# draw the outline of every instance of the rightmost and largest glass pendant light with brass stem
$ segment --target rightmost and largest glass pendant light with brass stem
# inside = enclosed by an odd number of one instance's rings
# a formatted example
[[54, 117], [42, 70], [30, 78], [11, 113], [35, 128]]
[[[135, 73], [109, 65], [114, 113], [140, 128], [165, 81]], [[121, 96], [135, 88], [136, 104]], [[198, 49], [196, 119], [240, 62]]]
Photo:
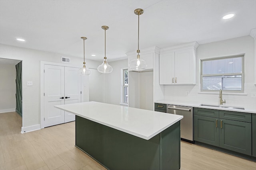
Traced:
[[129, 69], [134, 71], [142, 71], [147, 67], [146, 61], [140, 59], [140, 49], [139, 49], [139, 29], [140, 29], [140, 15], [143, 14], [143, 10], [138, 8], [134, 10], [134, 14], [138, 15], [138, 50], [137, 50], [137, 59], [130, 61]]

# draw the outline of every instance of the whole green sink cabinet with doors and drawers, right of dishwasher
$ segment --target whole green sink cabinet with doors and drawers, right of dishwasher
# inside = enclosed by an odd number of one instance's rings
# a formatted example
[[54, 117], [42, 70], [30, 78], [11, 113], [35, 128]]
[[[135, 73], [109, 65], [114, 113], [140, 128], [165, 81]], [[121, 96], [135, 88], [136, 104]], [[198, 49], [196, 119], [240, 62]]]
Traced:
[[256, 157], [256, 114], [194, 108], [194, 140]]

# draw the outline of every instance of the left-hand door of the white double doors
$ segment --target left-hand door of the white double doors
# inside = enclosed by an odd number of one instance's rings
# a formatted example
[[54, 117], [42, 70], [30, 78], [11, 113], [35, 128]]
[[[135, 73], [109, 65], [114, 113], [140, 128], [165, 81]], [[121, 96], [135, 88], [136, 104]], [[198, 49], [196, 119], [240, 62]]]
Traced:
[[[63, 97], [63, 99], [62, 99]], [[44, 64], [44, 127], [64, 123], [64, 67]]]

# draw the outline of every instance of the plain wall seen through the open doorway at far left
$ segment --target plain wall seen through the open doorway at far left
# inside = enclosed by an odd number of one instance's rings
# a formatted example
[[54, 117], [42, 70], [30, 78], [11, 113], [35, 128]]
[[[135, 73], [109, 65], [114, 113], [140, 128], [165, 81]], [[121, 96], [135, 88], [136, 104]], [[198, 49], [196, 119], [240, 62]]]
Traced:
[[16, 68], [14, 64], [0, 63], [0, 113], [15, 111]]

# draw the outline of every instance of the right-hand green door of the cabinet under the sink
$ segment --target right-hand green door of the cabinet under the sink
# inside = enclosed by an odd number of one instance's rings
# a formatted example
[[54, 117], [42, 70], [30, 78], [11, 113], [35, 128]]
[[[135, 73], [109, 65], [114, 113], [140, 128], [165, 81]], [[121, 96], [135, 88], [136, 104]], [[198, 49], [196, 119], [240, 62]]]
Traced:
[[252, 155], [252, 124], [219, 119], [220, 147]]

